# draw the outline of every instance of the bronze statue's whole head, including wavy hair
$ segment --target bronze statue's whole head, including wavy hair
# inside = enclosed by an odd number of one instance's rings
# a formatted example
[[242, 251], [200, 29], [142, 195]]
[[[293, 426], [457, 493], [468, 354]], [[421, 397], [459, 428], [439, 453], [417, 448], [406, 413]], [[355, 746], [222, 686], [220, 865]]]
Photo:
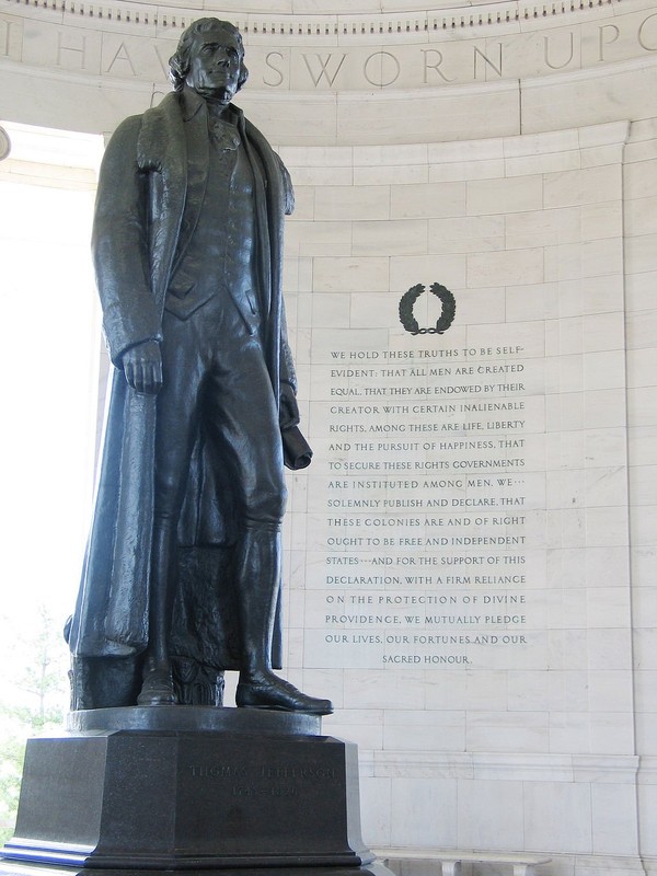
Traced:
[[228, 21], [198, 19], [169, 59], [169, 78], [175, 91], [186, 84], [204, 97], [228, 103], [249, 78], [242, 35]]

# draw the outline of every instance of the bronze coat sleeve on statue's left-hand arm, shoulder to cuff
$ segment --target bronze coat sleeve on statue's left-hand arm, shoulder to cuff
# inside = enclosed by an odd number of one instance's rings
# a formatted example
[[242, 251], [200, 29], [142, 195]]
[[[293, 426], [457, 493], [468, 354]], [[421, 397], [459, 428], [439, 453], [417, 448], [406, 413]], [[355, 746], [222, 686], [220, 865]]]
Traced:
[[143, 341], [161, 341], [161, 318], [150, 288], [148, 174], [139, 168], [140, 116], [112, 137], [99, 178], [92, 254], [112, 361]]

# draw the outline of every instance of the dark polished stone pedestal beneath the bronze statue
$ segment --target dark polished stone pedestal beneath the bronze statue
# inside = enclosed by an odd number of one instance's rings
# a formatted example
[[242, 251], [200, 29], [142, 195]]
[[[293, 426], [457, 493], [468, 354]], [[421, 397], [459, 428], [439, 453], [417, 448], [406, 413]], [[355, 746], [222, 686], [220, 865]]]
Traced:
[[310, 715], [197, 706], [77, 712], [31, 739], [0, 854], [2, 876], [387, 873], [360, 838], [356, 746]]

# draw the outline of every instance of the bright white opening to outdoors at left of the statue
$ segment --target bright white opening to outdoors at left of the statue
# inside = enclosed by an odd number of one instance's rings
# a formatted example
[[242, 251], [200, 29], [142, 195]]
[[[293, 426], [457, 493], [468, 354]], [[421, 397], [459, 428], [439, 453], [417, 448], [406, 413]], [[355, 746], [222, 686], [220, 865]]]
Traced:
[[[0, 829], [21, 735], [66, 708], [61, 630], [93, 493], [100, 307], [89, 240], [101, 137], [1, 123]], [[25, 733], [27, 730], [27, 733]], [[16, 765], [18, 764], [18, 765]]]

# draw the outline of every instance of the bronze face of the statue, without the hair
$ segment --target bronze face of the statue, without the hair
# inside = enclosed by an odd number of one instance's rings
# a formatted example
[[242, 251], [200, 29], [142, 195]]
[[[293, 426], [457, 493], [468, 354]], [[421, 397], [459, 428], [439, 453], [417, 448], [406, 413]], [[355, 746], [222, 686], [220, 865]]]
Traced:
[[197, 34], [189, 55], [186, 83], [203, 97], [229, 103], [238, 91], [242, 48], [227, 31]]

